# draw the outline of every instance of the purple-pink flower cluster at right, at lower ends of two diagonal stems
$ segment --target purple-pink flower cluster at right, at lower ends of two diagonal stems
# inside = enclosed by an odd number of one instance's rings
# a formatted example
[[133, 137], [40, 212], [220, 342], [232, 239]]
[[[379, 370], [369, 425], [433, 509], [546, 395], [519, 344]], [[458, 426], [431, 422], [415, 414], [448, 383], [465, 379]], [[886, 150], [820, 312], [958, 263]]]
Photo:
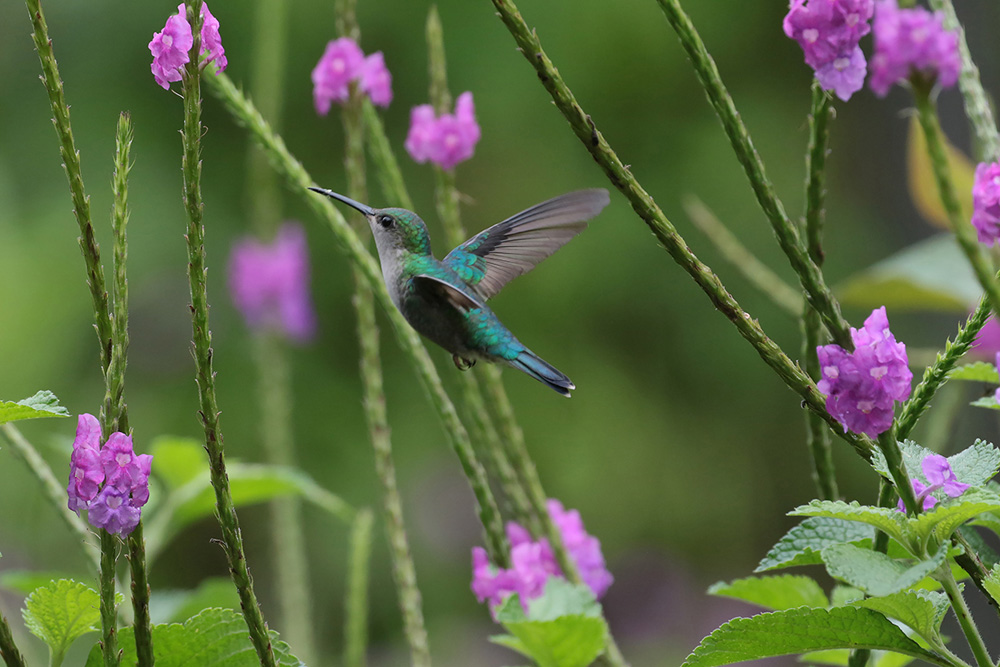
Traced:
[[823, 375], [816, 386], [845, 431], [875, 438], [892, 426], [894, 401], [909, 398], [913, 373], [906, 345], [889, 331], [885, 306], [872, 311], [864, 328], [851, 327], [851, 338], [853, 352], [839, 345], [816, 348]]

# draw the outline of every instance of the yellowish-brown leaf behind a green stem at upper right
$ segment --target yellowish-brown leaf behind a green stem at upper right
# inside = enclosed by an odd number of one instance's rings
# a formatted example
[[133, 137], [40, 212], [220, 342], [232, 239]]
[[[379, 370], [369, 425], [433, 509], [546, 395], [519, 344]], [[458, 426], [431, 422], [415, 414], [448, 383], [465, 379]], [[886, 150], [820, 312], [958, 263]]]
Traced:
[[[927, 151], [927, 140], [916, 116], [910, 120], [907, 144], [907, 184], [914, 205], [928, 222], [941, 229], [951, 229], [948, 214], [938, 195], [937, 180]], [[968, 220], [972, 217], [972, 183], [975, 180], [975, 166], [962, 151], [948, 141], [947, 137], [944, 140], [944, 148], [948, 171], [955, 184], [959, 205], [962, 207], [962, 220]]]

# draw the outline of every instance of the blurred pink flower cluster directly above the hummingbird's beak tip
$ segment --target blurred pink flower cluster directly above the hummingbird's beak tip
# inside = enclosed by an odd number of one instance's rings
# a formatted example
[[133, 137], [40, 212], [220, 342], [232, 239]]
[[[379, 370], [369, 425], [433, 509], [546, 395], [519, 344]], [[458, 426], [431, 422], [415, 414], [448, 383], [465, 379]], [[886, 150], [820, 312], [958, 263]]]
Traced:
[[374, 104], [387, 107], [392, 102], [392, 75], [382, 52], [376, 51], [366, 58], [361, 47], [349, 37], [326, 45], [323, 57], [313, 68], [312, 81], [313, 102], [321, 116], [330, 113], [333, 102], [347, 101], [352, 81], [358, 82], [358, 88]]

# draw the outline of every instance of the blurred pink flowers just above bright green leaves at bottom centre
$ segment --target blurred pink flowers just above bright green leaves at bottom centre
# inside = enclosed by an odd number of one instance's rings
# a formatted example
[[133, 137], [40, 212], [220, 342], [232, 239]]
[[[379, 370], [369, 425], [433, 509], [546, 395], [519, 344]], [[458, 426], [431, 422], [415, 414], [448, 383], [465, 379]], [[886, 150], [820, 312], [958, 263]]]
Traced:
[[[587, 534], [579, 512], [565, 510], [558, 500], [549, 500], [547, 507], [581, 579], [600, 598], [614, 581], [604, 565], [601, 543]], [[511, 547], [510, 569], [492, 566], [485, 549], [472, 549], [472, 592], [480, 602], [489, 600], [491, 611], [507, 596], [517, 593], [527, 612], [528, 600], [540, 597], [549, 577], [562, 577], [562, 570], [545, 538], [532, 540], [531, 534], [513, 521], [507, 524], [507, 538]]]

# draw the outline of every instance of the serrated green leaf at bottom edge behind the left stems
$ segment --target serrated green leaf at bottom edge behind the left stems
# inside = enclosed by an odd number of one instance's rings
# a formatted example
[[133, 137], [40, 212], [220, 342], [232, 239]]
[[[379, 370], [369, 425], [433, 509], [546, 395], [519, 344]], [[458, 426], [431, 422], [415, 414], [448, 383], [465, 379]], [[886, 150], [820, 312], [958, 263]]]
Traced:
[[[303, 667], [288, 644], [270, 632], [274, 659], [281, 667]], [[135, 635], [132, 628], [119, 631], [122, 667], [135, 667]], [[183, 624], [153, 626], [153, 657], [157, 667], [259, 667], [243, 616], [231, 609], [206, 609]], [[86, 667], [104, 664], [100, 645], [90, 650]]]

